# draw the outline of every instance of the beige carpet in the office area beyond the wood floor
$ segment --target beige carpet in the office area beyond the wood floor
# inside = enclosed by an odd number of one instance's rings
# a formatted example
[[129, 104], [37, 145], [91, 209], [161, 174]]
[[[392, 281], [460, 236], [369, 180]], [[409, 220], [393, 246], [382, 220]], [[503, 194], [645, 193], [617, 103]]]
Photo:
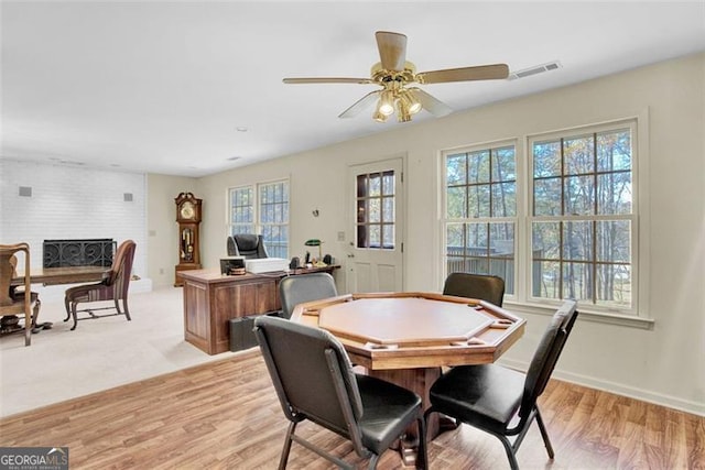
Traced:
[[[111, 304], [111, 303], [109, 303]], [[108, 304], [108, 305], [109, 305]], [[64, 323], [63, 300], [43, 300], [40, 321], [53, 328], [0, 338], [0, 416], [234, 356], [208, 356], [184, 341], [182, 289], [131, 294], [123, 316]]]

